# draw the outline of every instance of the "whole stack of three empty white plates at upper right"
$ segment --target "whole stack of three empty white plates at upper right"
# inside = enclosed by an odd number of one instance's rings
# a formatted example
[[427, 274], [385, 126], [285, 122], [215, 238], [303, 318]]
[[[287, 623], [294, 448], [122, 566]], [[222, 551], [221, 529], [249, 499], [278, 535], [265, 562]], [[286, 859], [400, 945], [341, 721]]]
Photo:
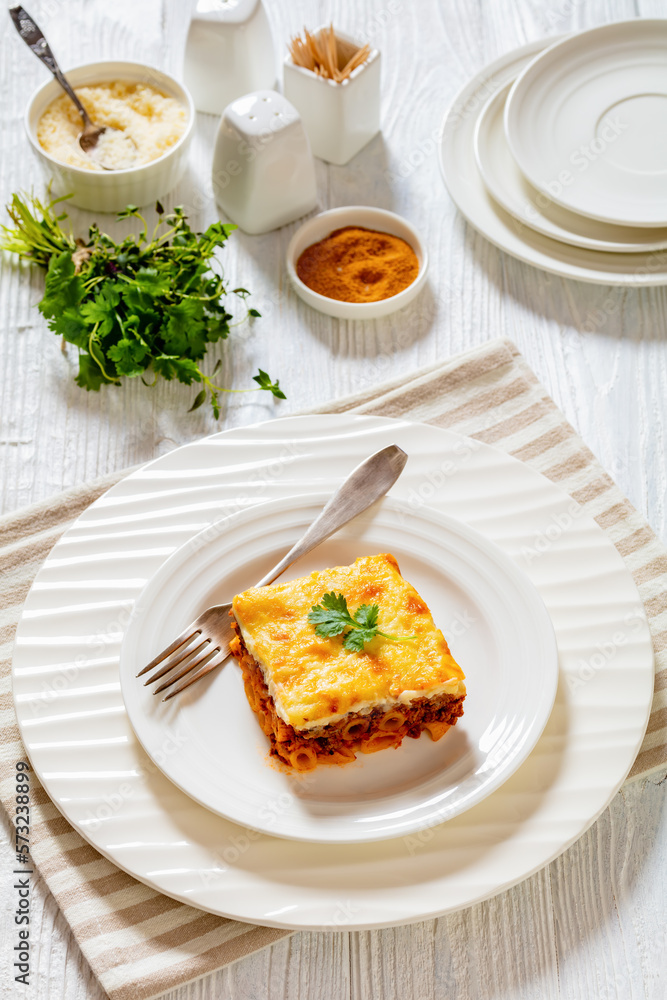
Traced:
[[527, 263], [667, 282], [667, 19], [617, 22], [496, 60], [442, 130], [452, 198]]

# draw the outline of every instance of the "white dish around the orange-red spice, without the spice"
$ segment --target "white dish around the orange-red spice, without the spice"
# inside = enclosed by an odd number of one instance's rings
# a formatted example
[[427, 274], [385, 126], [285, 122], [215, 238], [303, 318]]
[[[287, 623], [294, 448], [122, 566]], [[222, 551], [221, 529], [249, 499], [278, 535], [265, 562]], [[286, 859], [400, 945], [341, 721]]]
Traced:
[[[419, 272], [412, 284], [398, 295], [380, 299], [379, 302], [343, 302], [340, 299], [330, 299], [326, 295], [320, 295], [305, 285], [296, 273], [296, 262], [299, 257], [312, 243], [318, 243], [334, 229], [342, 229], [344, 226], [376, 229], [379, 232], [391, 233], [392, 236], [400, 236], [409, 243], [419, 261]], [[379, 319], [407, 306], [419, 294], [426, 282], [428, 254], [417, 230], [402, 216], [388, 212], [384, 208], [346, 205], [344, 208], [332, 208], [328, 212], [321, 212], [297, 229], [287, 248], [287, 271], [299, 298], [313, 309], [326, 313], [327, 316], [336, 316], [338, 319]]]

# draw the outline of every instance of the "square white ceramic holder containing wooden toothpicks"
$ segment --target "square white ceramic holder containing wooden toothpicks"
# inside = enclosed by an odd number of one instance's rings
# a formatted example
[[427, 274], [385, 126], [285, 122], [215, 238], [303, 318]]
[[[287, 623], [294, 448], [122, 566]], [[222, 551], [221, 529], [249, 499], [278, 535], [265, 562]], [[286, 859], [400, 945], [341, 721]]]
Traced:
[[[319, 35], [318, 28], [315, 35]], [[336, 37], [355, 49], [354, 38], [336, 31]], [[363, 44], [363, 43], [362, 43]], [[380, 131], [380, 53], [372, 49], [347, 80], [317, 76], [297, 66], [288, 55], [284, 63], [283, 92], [297, 109], [315, 156], [328, 163], [347, 163]]]

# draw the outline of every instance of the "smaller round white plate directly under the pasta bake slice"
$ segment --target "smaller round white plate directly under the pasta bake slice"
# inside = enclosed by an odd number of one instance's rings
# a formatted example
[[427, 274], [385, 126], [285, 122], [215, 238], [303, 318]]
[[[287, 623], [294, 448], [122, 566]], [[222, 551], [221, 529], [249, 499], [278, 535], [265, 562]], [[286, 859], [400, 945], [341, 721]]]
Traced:
[[[214, 812], [277, 837], [386, 840], [451, 819], [490, 795], [526, 759], [553, 707], [558, 651], [549, 615], [525, 574], [483, 535], [385, 497], [281, 578], [378, 552], [398, 559], [466, 672], [464, 716], [438, 743], [423, 735], [395, 750], [359, 754], [344, 768], [295, 774], [269, 756], [234, 660], [167, 702], [137, 679], [202, 611], [270, 572], [327, 500], [271, 500], [226, 518], [213, 538], [205, 528], [182, 545], [139, 598], [121, 649], [121, 688], [151, 760]], [[176, 725], [181, 750], [165, 756], [164, 734]], [[284, 808], [267, 810], [270, 801]]]

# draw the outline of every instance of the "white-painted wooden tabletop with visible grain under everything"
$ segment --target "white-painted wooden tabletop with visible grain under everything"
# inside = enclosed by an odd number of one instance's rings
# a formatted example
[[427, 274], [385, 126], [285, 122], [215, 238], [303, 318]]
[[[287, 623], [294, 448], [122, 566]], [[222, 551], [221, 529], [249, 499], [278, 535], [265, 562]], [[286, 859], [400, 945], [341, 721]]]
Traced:
[[[288, 400], [230, 396], [219, 425], [182, 386], [85, 393], [35, 309], [41, 276], [3, 262], [0, 284], [0, 509], [11, 511], [212, 432], [287, 414], [491, 337], [515, 341], [586, 443], [667, 540], [667, 290], [584, 285], [497, 251], [457, 214], [440, 179], [434, 134], [459, 87], [486, 62], [548, 34], [665, 14], [661, 0], [266, 0], [281, 47], [304, 23], [333, 19], [382, 50], [383, 132], [347, 167], [318, 163], [322, 208], [394, 209], [423, 233], [430, 288], [406, 315], [368, 324], [310, 311], [287, 284], [294, 226], [235, 234], [224, 256], [263, 318], [218, 354], [225, 383], [257, 365]], [[30, 0], [65, 67], [136, 58], [180, 72], [187, 0]], [[5, 15], [2, 15], [3, 17]], [[41, 190], [23, 134], [26, 97], [46, 71], [15, 38], [0, 40], [0, 197]], [[215, 120], [200, 116], [191, 173], [169, 206], [195, 228], [216, 218], [208, 170]], [[85, 230], [90, 216], [71, 212]], [[113, 223], [109, 228], [115, 230]], [[137, 380], [138, 381], [138, 380]], [[169, 994], [173, 1000], [664, 1000], [667, 814], [659, 779], [622, 791], [559, 860], [455, 916], [364, 933], [300, 933]], [[6, 828], [6, 830], [8, 827]], [[5, 831], [6, 832], [6, 831]], [[12, 991], [14, 893], [3, 843], [0, 996]], [[33, 984], [39, 1000], [102, 1000], [43, 885], [34, 894]], [[662, 978], [661, 978], [662, 977]], [[22, 988], [21, 988], [22, 989]], [[23, 990], [21, 992], [23, 995]]]

